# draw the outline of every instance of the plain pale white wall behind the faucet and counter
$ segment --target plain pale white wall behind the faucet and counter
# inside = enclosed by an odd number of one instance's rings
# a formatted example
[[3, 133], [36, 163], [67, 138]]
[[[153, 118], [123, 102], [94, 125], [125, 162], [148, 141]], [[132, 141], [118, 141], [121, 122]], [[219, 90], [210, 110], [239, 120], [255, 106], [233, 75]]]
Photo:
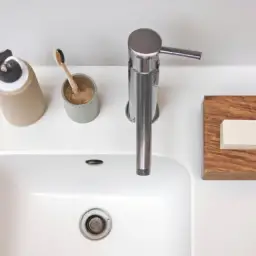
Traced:
[[163, 64], [256, 64], [253, 0], [0, 0], [0, 50], [32, 64], [126, 65], [127, 38], [155, 29], [167, 46], [203, 51], [203, 60], [163, 56]]

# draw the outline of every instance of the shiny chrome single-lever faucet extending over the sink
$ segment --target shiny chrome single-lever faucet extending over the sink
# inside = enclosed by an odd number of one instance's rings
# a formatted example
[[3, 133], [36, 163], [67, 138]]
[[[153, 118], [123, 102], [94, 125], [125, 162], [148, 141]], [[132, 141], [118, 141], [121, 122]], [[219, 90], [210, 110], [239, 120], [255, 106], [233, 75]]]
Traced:
[[137, 174], [149, 175], [151, 167], [151, 124], [159, 116], [157, 89], [159, 53], [200, 59], [201, 52], [162, 46], [155, 31], [141, 28], [128, 39], [129, 101], [126, 115], [136, 122]]

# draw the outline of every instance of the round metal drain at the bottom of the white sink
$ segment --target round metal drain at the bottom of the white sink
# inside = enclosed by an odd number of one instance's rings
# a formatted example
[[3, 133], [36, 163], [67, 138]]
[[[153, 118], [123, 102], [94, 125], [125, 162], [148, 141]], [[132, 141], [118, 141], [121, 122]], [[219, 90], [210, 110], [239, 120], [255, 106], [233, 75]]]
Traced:
[[79, 226], [83, 236], [90, 240], [100, 240], [111, 231], [112, 220], [106, 211], [94, 208], [81, 217]]

